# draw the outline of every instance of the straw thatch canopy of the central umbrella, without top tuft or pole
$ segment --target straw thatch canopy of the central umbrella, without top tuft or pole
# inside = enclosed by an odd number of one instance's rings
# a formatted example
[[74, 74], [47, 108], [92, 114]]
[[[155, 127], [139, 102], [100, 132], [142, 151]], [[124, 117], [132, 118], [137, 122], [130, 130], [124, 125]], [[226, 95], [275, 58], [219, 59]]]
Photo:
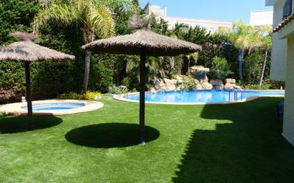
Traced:
[[128, 55], [140, 55], [143, 48], [146, 50], [147, 56], [177, 56], [201, 51], [202, 47], [142, 28], [132, 34], [93, 41], [82, 48], [96, 53]]

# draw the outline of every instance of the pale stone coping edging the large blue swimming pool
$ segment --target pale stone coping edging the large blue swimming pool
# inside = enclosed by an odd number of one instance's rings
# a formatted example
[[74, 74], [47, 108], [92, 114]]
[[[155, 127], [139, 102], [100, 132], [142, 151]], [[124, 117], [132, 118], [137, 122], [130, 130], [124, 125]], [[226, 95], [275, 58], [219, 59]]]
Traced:
[[[281, 92], [285, 92], [285, 90], [243, 90], [243, 91], [260, 91], [260, 92], [281, 91]], [[171, 91], [171, 92], [175, 92], [175, 91]], [[146, 93], [150, 93], [150, 92], [146, 92]], [[128, 93], [128, 95], [137, 95], [137, 94], [139, 94], [139, 92]], [[116, 100], [124, 101], [124, 102], [140, 103], [140, 101], [137, 101], [137, 100], [130, 100], [130, 99], [123, 98], [123, 96], [124, 96], [124, 94], [123, 95], [113, 95], [113, 98]], [[278, 98], [278, 97], [284, 97], [284, 95], [254, 96], [254, 97], [250, 97], [250, 98], [244, 98], [243, 100], [236, 100], [236, 101], [225, 102], [225, 103], [160, 103], [160, 102], [145, 102], [145, 103], [161, 104], [161, 105], [216, 105], [216, 104], [227, 105], [227, 104], [234, 104], [234, 103], [245, 103], [245, 102], [249, 102], [251, 100], [255, 100], [257, 98], [265, 98], [265, 97]]]

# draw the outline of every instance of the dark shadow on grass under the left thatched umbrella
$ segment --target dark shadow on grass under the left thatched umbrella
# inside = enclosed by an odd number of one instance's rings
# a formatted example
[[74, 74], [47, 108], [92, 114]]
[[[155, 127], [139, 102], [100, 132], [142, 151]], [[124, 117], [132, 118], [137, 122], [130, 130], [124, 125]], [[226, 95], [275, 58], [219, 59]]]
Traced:
[[[25, 116], [0, 117], [0, 133], [17, 133], [29, 130], [28, 118]], [[34, 130], [44, 129], [59, 125], [61, 118], [54, 116], [34, 117]]]

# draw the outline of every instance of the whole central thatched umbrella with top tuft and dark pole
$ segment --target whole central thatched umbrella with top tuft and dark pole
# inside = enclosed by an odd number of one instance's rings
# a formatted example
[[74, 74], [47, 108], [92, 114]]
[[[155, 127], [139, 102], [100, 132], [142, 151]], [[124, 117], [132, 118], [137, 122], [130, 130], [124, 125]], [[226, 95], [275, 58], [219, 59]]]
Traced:
[[93, 41], [82, 46], [96, 53], [140, 55], [140, 140], [144, 144], [145, 134], [145, 75], [146, 56], [177, 56], [201, 51], [201, 46], [148, 31], [150, 19], [141, 20], [133, 16], [129, 26], [135, 33]]

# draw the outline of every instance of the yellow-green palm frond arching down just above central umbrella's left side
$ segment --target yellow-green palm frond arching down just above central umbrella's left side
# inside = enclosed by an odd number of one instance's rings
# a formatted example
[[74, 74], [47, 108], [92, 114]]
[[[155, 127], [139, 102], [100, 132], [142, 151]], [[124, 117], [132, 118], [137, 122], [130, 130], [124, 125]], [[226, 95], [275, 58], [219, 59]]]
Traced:
[[90, 9], [86, 17], [86, 23], [102, 38], [107, 38], [114, 34], [114, 21], [111, 11], [106, 6]]

